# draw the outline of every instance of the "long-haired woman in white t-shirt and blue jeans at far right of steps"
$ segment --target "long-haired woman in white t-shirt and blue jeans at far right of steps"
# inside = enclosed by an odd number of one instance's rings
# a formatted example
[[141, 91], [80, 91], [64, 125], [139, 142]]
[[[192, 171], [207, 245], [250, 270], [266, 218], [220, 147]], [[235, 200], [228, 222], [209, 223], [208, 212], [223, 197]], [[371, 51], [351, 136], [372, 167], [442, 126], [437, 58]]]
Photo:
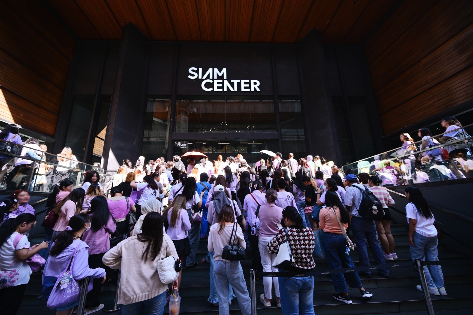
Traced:
[[[412, 260], [438, 261], [437, 229], [434, 226], [435, 217], [430, 211], [429, 203], [422, 196], [420, 189], [415, 186], [407, 187], [404, 195], [409, 201], [406, 205], [406, 216], [409, 223]], [[424, 272], [429, 293], [447, 295], [442, 267], [440, 265], [424, 266]], [[417, 289], [422, 290], [420, 285]]]

